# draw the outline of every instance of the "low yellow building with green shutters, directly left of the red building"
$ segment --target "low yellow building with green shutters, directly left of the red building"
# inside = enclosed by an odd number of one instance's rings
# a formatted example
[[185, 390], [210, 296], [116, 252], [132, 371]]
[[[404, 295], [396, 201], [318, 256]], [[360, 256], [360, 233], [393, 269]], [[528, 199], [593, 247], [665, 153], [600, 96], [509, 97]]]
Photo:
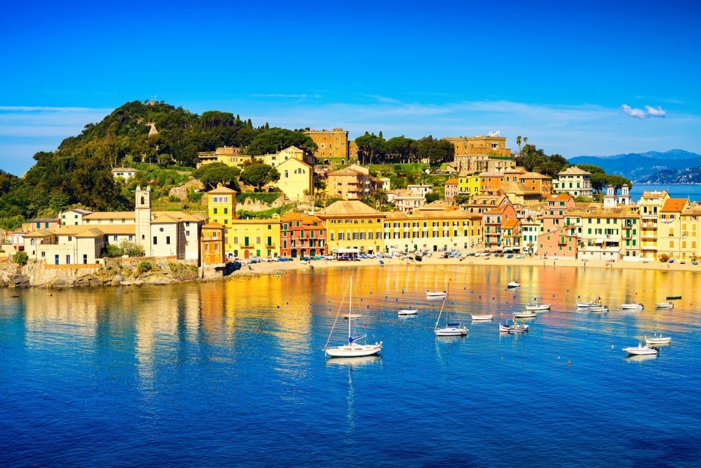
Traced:
[[[233, 220], [227, 234], [234, 257], [278, 258], [280, 256], [280, 219]], [[227, 251], [229, 251], [227, 249]]]

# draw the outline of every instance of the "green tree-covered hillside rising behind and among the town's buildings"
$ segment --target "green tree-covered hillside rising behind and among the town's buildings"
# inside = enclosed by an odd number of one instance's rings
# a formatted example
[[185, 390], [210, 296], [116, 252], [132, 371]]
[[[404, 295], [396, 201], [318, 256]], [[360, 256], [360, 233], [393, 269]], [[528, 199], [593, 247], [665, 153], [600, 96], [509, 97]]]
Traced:
[[[556, 177], [569, 166], [562, 156], [547, 156], [534, 145], [521, 149], [520, 137], [517, 142], [517, 164], [527, 171]], [[425, 169], [440, 167], [454, 156], [451, 143], [430, 135], [385, 140], [382, 132], [366, 132], [355, 143], [358, 162], [390, 175], [393, 188], [416, 180], [433, 182]], [[274, 168], [247, 167], [240, 172], [215, 166], [196, 171], [198, 152], [239, 147], [245, 154], [272, 154], [292, 145], [308, 154], [317, 149], [304, 129], [271, 128], [268, 123], [254, 127], [250, 119], [229, 112], [198, 115], [164, 102], [127, 102], [99, 123], [88, 123], [80, 135], [64, 139], [55, 151], [34, 154], [36, 163], [22, 178], [0, 171], [0, 227], [16, 229], [26, 220], [55, 218], [68, 208], [131, 210], [136, 185], [151, 186], [154, 199], [168, 197], [171, 187], [193, 177], [210, 187], [223, 182], [238, 191], [243, 182], [260, 189], [279, 176]], [[419, 161], [428, 161], [428, 166]], [[111, 170], [118, 167], [135, 168], [137, 174], [128, 182], [115, 179]], [[597, 177], [595, 188], [600, 188], [599, 179], [606, 177]], [[441, 184], [443, 179], [435, 182]]]

